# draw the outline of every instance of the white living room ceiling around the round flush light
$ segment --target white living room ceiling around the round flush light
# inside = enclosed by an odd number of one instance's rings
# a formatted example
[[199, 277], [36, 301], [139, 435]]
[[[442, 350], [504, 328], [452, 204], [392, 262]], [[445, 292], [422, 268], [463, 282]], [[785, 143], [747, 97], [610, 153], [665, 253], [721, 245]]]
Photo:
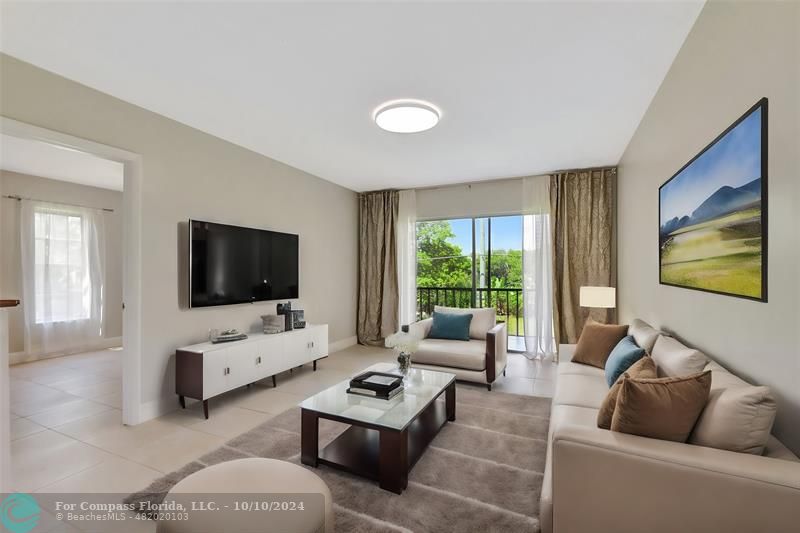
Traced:
[[617, 163], [702, 5], [3, 2], [0, 48], [360, 191]]

